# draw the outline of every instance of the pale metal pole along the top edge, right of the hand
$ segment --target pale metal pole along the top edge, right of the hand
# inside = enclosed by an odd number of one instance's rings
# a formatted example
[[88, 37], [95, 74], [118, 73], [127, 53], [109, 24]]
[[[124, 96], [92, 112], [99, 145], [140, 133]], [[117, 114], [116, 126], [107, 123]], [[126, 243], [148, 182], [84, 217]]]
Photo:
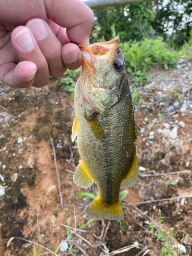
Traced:
[[138, 4], [143, 2], [150, 2], [154, 0], [90, 0], [82, 1], [84, 4], [88, 5], [91, 9], [100, 9], [117, 5], [129, 5]]

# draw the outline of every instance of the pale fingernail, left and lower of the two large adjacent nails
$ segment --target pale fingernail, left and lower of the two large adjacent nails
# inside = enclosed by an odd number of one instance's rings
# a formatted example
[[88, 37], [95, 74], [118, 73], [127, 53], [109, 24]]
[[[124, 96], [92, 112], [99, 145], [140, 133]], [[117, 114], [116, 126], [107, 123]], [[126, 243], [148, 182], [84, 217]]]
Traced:
[[30, 51], [34, 47], [33, 39], [28, 29], [18, 32], [15, 36], [15, 41], [25, 51]]

